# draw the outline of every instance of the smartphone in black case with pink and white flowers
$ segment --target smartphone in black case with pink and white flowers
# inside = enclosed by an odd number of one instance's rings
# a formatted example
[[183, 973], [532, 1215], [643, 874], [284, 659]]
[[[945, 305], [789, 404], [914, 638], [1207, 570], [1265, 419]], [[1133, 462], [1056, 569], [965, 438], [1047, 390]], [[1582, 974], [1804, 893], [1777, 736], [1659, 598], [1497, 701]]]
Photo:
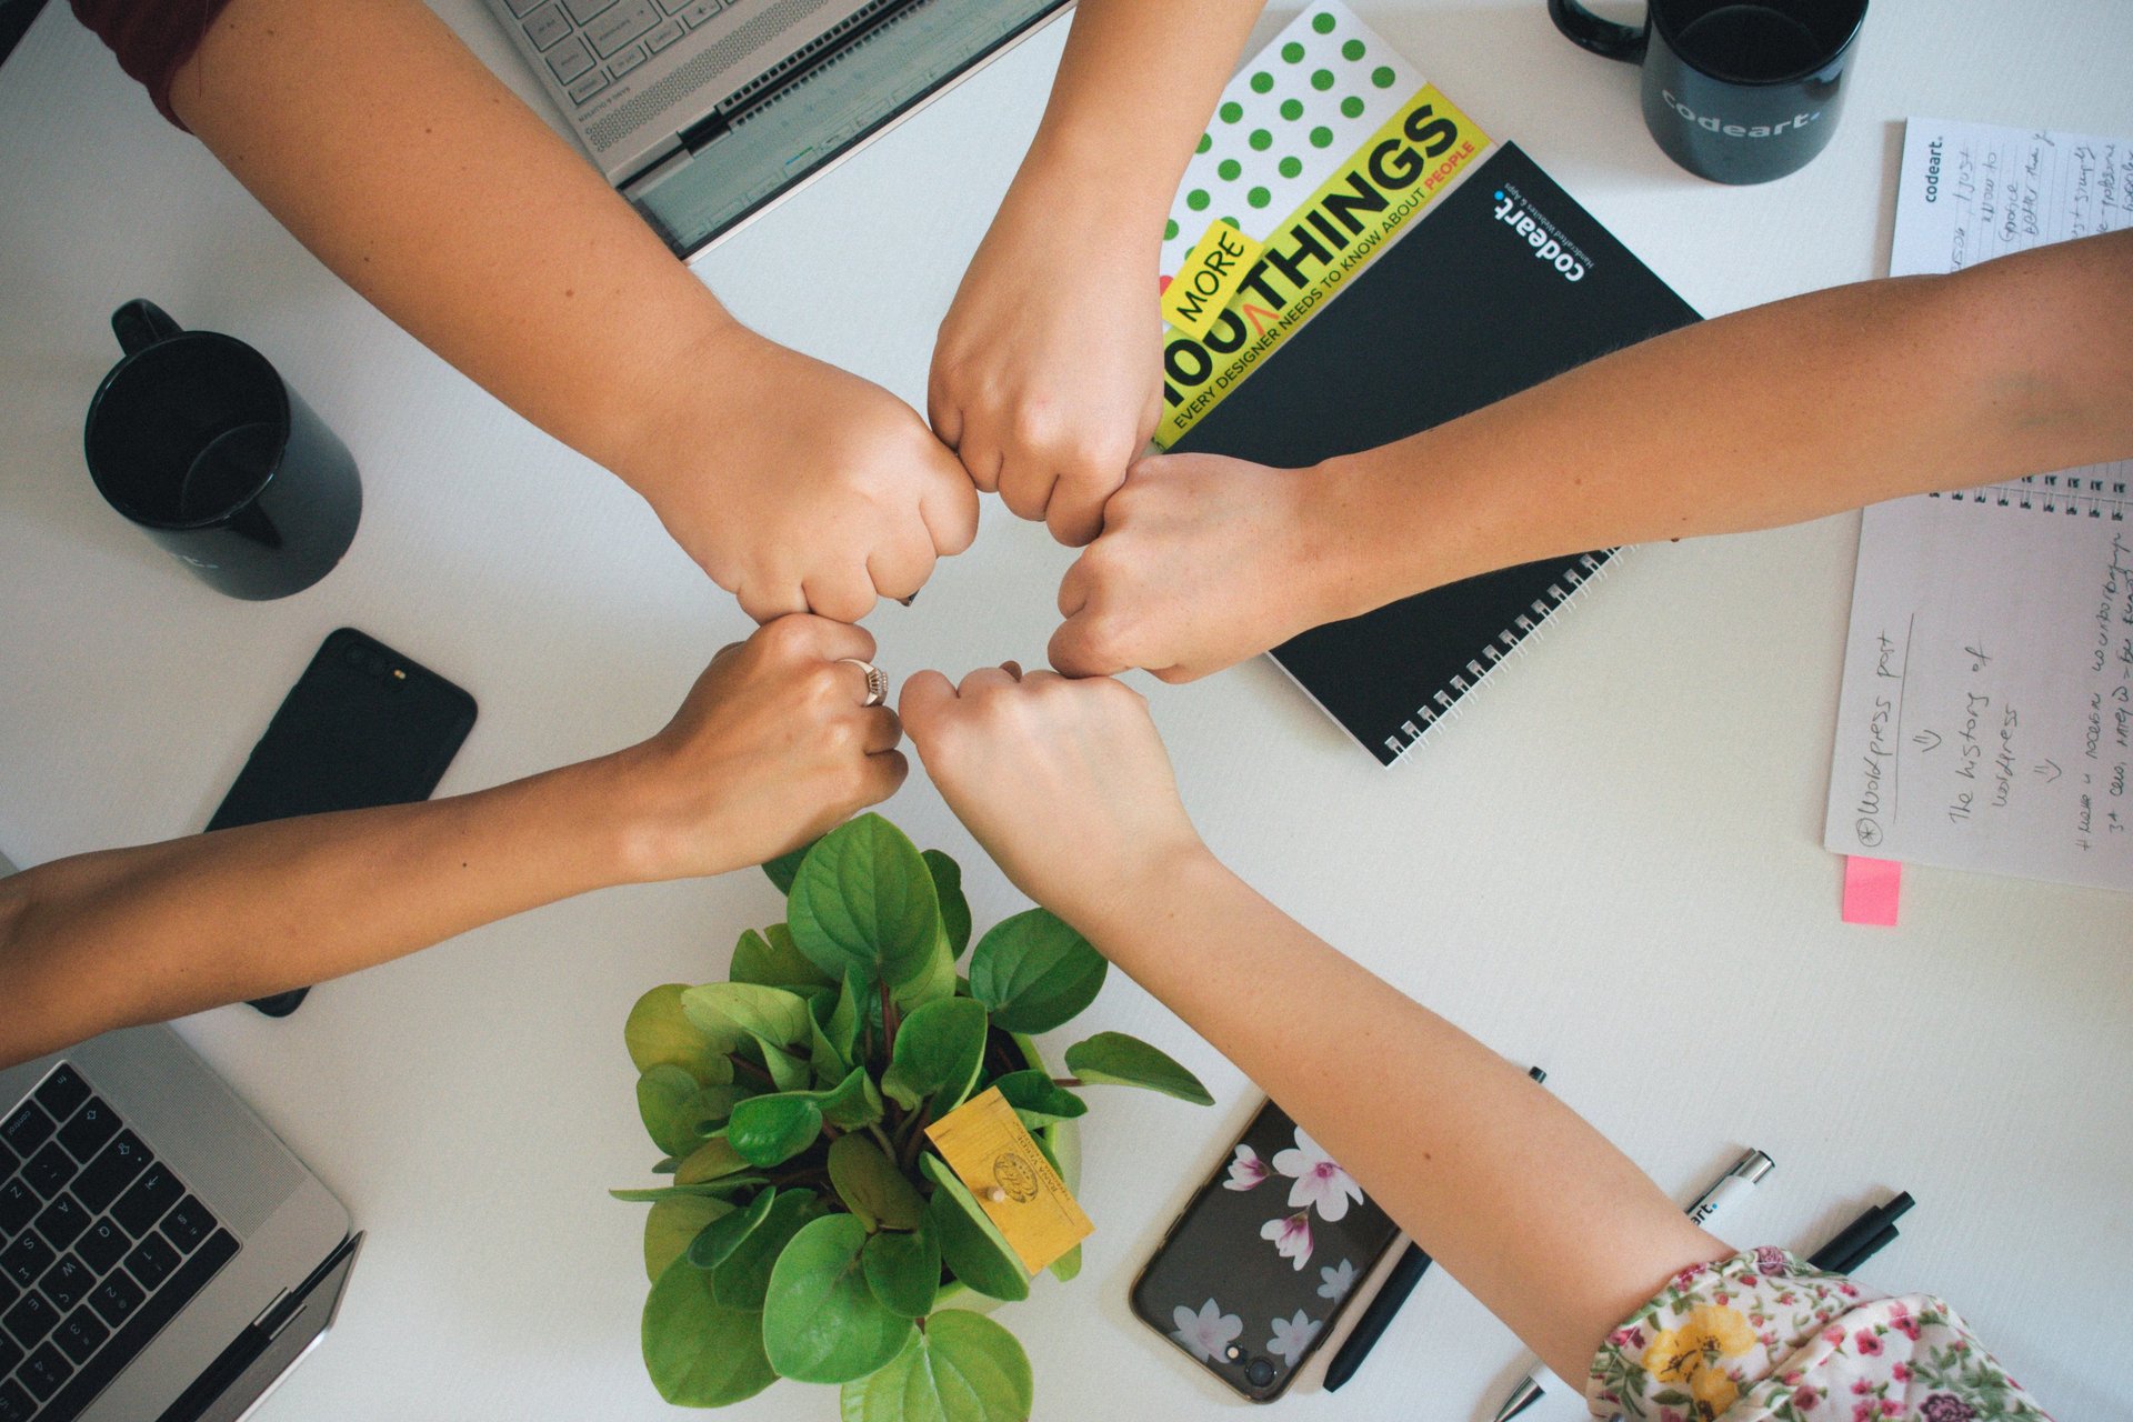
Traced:
[[1133, 1281], [1133, 1313], [1244, 1399], [1271, 1403], [1397, 1237], [1269, 1100]]

